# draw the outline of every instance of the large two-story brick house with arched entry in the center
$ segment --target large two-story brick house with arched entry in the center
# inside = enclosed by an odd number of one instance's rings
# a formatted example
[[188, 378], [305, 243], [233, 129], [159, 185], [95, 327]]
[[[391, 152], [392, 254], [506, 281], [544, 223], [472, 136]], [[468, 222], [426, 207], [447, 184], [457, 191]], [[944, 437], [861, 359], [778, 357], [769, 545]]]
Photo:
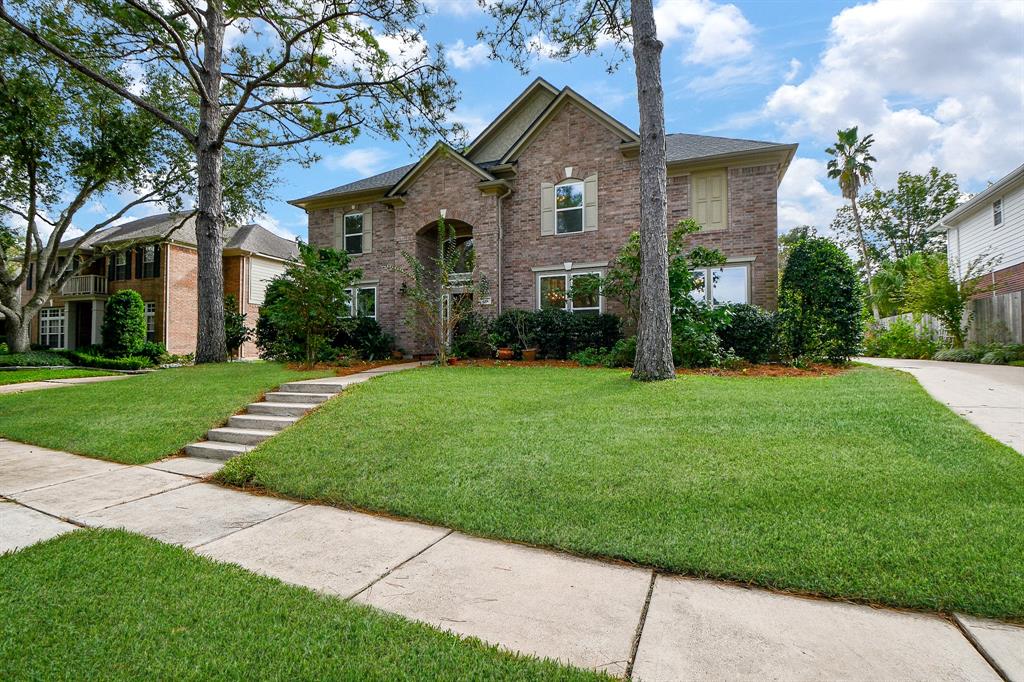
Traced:
[[[710, 301], [774, 308], [778, 183], [796, 144], [670, 134], [670, 227], [693, 216], [692, 239], [729, 262], [709, 272]], [[639, 226], [637, 134], [570, 88], [527, 87], [460, 152], [435, 144], [419, 162], [291, 202], [309, 220], [309, 241], [352, 254], [364, 271], [353, 308], [375, 316], [407, 351], [401, 253], [436, 251], [439, 215], [456, 228], [489, 295], [486, 314], [554, 305], [616, 311], [600, 299], [560, 295], [572, 278], [601, 275]]]

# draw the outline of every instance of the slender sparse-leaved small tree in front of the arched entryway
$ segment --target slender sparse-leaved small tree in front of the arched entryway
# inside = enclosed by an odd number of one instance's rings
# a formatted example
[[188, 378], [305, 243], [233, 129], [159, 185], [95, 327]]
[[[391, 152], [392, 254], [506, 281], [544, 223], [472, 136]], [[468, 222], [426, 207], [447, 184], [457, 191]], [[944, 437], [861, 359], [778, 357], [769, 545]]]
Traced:
[[401, 257], [406, 264], [390, 269], [404, 279], [399, 293], [408, 304], [406, 323], [430, 345], [438, 365], [445, 367], [459, 324], [472, 314], [473, 300], [489, 291], [488, 283], [475, 275], [455, 281], [453, 275], [466, 254], [456, 243], [455, 227], [440, 216], [434, 255], [421, 259], [402, 251]]

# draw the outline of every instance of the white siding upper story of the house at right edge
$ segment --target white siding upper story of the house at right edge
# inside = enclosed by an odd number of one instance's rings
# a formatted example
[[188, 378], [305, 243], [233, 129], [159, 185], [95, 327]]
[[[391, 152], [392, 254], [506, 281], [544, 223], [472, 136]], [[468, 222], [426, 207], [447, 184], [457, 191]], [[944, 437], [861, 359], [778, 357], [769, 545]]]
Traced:
[[979, 261], [994, 259], [973, 274], [994, 275], [1024, 263], [1024, 165], [958, 206], [932, 229], [946, 232], [949, 268], [957, 279]]

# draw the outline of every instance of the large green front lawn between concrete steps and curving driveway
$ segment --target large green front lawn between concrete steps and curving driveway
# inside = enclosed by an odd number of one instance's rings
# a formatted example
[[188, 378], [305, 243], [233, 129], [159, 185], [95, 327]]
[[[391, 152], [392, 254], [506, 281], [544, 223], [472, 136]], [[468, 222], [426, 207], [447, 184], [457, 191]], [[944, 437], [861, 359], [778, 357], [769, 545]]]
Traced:
[[1024, 458], [908, 375], [423, 369], [223, 480], [701, 577], [1024, 620]]

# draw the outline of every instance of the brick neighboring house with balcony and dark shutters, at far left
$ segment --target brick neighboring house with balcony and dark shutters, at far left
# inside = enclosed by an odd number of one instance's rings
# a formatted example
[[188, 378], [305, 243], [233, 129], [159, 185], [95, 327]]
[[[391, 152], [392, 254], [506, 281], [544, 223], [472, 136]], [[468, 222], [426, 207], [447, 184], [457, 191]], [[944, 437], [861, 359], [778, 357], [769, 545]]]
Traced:
[[[76, 243], [63, 242], [60, 249]], [[69, 280], [61, 294], [46, 303], [33, 322], [32, 342], [71, 349], [98, 344], [108, 296], [134, 289], [145, 303], [150, 340], [163, 343], [171, 353], [195, 352], [199, 329], [195, 218], [165, 213], [101, 229], [79, 247], [83, 255], [96, 250], [113, 253]], [[225, 230], [224, 293], [238, 298], [247, 324], [256, 324], [266, 283], [297, 255], [295, 242], [260, 225]], [[31, 289], [31, 276], [25, 286]], [[247, 343], [241, 355], [255, 357], [255, 345]]]

